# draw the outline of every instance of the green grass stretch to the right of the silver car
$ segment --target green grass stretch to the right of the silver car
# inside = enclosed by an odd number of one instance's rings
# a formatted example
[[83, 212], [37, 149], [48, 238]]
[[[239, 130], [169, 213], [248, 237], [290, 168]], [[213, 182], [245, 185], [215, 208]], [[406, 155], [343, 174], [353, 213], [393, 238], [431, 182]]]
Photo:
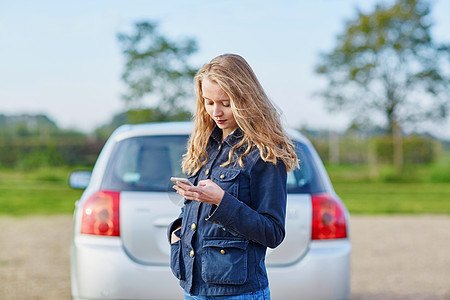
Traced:
[[351, 214], [450, 214], [450, 163], [406, 166], [329, 165], [333, 186]]

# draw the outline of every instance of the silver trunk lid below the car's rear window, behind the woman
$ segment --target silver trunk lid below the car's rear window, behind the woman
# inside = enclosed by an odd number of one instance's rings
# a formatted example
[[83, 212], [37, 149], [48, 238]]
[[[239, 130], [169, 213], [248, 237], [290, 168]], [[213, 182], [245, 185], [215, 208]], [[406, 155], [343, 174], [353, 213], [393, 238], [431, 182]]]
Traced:
[[[167, 227], [175, 220], [181, 196], [172, 193], [121, 192], [120, 232], [128, 255], [142, 264], [169, 264]], [[286, 237], [267, 252], [268, 266], [292, 264], [307, 251], [311, 236], [311, 197], [290, 194], [286, 213]]]

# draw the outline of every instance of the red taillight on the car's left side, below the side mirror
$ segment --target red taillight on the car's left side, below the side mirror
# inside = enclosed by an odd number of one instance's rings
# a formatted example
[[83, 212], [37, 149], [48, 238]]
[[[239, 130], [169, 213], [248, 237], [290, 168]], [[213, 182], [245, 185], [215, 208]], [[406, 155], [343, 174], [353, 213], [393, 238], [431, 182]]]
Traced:
[[120, 236], [119, 224], [120, 192], [99, 191], [83, 205], [81, 233]]

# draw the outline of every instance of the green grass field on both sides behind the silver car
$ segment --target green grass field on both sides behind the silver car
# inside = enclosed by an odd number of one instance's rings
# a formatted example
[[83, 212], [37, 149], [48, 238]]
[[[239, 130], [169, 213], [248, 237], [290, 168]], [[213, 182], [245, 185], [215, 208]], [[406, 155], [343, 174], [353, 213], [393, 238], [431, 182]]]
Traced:
[[[450, 183], [371, 181], [365, 168], [327, 169], [351, 214], [450, 215]], [[67, 168], [0, 171], [0, 214], [71, 214], [82, 191], [69, 188], [69, 173]]]

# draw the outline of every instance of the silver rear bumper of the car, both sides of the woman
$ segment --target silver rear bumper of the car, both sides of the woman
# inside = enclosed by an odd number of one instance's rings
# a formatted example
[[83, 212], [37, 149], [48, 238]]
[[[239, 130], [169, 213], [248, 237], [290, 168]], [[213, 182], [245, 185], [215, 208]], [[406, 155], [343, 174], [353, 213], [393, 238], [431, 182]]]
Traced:
[[[268, 268], [272, 299], [349, 299], [347, 239], [314, 241], [298, 262]], [[71, 245], [72, 297], [76, 299], [183, 299], [168, 265], [130, 259], [120, 238], [78, 235]]]

